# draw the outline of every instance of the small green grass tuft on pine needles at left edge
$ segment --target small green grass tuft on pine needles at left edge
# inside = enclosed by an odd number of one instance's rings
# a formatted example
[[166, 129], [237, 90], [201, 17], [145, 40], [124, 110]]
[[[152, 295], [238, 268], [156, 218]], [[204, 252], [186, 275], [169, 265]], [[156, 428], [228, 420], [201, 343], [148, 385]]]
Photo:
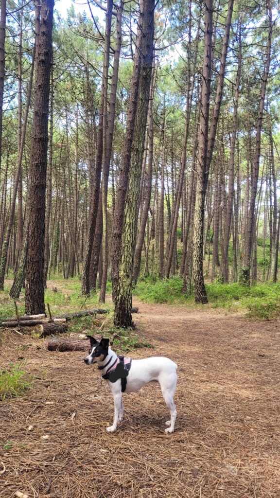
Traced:
[[21, 396], [32, 385], [32, 376], [21, 365], [10, 364], [9, 370], [0, 371], [0, 400]]

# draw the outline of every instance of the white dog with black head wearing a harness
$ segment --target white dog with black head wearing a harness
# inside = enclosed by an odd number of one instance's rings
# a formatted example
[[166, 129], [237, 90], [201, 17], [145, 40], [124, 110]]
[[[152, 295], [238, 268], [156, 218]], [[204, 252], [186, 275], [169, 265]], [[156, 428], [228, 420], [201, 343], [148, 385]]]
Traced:
[[177, 411], [173, 398], [177, 384], [177, 365], [164, 357], [141, 360], [124, 359], [112, 351], [109, 347], [109, 339], [101, 339], [98, 342], [92, 336], [88, 338], [90, 339], [90, 351], [84, 362], [87, 365], [97, 363], [99, 370], [104, 371], [102, 376], [107, 380], [114, 397], [114, 421], [113, 425], [107, 427], [106, 430], [116, 431], [118, 423], [123, 419], [122, 393], [124, 391], [137, 392], [143, 385], [155, 380], [160, 384], [164, 401], [170, 410], [170, 420], [165, 422], [165, 425], [168, 425], [165, 432], [174, 432]]

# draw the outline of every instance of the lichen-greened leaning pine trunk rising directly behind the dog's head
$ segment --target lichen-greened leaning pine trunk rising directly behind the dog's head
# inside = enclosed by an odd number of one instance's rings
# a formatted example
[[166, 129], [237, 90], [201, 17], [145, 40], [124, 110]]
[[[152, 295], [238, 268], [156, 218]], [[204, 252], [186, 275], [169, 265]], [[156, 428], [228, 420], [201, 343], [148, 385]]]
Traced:
[[138, 199], [141, 166], [144, 153], [145, 125], [147, 121], [151, 69], [153, 61], [154, 0], [140, 1], [142, 54], [139, 98], [132, 146], [129, 189], [125, 204], [125, 223], [122, 234], [121, 260], [117, 293], [115, 296], [114, 323], [117, 326], [133, 327], [132, 308], [132, 270], [137, 232]]

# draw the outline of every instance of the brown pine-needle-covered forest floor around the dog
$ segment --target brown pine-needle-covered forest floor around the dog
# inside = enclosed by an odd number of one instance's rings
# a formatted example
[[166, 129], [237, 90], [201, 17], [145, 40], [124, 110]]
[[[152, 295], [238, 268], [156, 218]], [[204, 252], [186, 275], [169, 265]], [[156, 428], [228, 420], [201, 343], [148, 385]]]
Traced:
[[[175, 432], [158, 385], [124, 395], [82, 352], [51, 353], [44, 340], [2, 340], [1, 366], [26, 362], [33, 387], [0, 403], [0, 496], [39, 498], [279, 498], [280, 322], [134, 299], [138, 333], [178, 365]], [[32, 425], [33, 430], [28, 431]]]

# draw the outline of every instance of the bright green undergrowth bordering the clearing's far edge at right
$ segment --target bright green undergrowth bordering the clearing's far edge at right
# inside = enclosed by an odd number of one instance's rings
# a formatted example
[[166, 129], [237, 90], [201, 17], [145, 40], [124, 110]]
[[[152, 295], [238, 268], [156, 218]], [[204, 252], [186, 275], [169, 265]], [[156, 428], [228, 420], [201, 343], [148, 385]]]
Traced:
[[[170, 279], [140, 279], [134, 294], [144, 302], [185, 304], [194, 306], [194, 298], [182, 294], [183, 281], [180, 277]], [[252, 318], [275, 319], [280, 316], [280, 283], [266, 282], [251, 288], [239, 283], [206, 284], [209, 305], [230, 311], [247, 311]]]

